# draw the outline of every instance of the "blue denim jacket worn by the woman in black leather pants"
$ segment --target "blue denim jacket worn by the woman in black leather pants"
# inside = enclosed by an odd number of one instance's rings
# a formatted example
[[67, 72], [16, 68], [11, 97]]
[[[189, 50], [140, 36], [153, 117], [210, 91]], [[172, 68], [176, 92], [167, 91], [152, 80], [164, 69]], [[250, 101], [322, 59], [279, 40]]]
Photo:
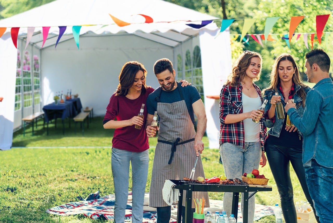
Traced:
[[[296, 88], [295, 89], [296, 93], [295, 93], [293, 99], [294, 99], [294, 103], [296, 103], [298, 114], [300, 116], [302, 116], [303, 112], [304, 112], [303, 100], [302, 100], [301, 97], [299, 97], [297, 95], [297, 91], [299, 89], [301, 89], [301, 86], [297, 85], [295, 88]], [[310, 90], [310, 87], [304, 88], [305, 94], [307, 94], [309, 92], [309, 90]], [[268, 112], [268, 110], [271, 107], [270, 100], [271, 100], [271, 98], [272, 98], [273, 95], [275, 95], [275, 91], [274, 90], [265, 91], [265, 93], [264, 93], [264, 99], [268, 100], [268, 102], [266, 104], [266, 107], [265, 107], [265, 113]], [[282, 93], [280, 91], [279, 91], [279, 95], [281, 96], [281, 99], [283, 99]], [[284, 102], [284, 100], [281, 100], [281, 102], [282, 102], [282, 105], [283, 105], [283, 108], [284, 108], [284, 106], [286, 105], [286, 103]], [[275, 110], [275, 117], [277, 117], [276, 110]], [[265, 126], [267, 128], [270, 128], [269, 131], [268, 131], [268, 134], [276, 136], [276, 137], [280, 137], [280, 132], [281, 132], [282, 128], [285, 127], [285, 126], [283, 126], [284, 119], [275, 118], [274, 123], [270, 119], [268, 119], [268, 118], [264, 117], [263, 119], [264, 119]], [[298, 129], [297, 129], [297, 132], [298, 132], [299, 137], [301, 137], [302, 133]]]

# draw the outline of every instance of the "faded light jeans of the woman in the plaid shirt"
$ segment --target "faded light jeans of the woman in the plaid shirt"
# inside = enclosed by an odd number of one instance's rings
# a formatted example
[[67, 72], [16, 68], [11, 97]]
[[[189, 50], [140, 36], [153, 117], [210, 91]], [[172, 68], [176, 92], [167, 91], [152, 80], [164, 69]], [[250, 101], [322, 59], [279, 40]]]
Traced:
[[[243, 173], [251, 173], [253, 169], [259, 168], [261, 158], [260, 142], [245, 142], [245, 149], [232, 143], [220, 145], [220, 155], [224, 173], [227, 179], [235, 177], [241, 179]], [[241, 193], [241, 212], [243, 215], [244, 194]], [[232, 192], [224, 193], [223, 210], [230, 216], [232, 204]], [[248, 222], [253, 222], [255, 199], [252, 196], [248, 200]]]

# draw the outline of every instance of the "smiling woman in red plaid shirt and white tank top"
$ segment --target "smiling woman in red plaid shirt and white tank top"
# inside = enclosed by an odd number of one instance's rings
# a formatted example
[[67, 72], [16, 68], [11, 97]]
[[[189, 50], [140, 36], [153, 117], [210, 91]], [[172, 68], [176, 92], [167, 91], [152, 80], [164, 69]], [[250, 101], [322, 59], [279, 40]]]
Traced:
[[[257, 110], [263, 102], [261, 91], [253, 82], [259, 80], [261, 55], [244, 51], [232, 66], [232, 72], [220, 94], [220, 155], [228, 179], [241, 178], [260, 165], [266, 165], [263, 140], [266, 127]], [[259, 121], [255, 123], [252, 119]], [[243, 212], [243, 194], [241, 210]], [[231, 214], [232, 193], [224, 193], [223, 210]], [[254, 219], [255, 200], [248, 201], [248, 222]]]

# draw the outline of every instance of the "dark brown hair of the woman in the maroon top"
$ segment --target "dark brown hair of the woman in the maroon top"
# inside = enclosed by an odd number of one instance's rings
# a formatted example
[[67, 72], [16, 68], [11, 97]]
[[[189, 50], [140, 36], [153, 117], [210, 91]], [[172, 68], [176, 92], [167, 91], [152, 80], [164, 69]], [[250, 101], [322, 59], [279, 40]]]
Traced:
[[116, 96], [122, 96], [128, 94], [128, 89], [133, 86], [135, 76], [138, 71], [141, 70], [144, 73], [145, 79], [141, 86], [141, 94], [146, 93], [148, 86], [146, 85], [147, 70], [145, 66], [138, 61], [129, 61], [123, 66], [119, 75], [119, 84], [116, 90]]

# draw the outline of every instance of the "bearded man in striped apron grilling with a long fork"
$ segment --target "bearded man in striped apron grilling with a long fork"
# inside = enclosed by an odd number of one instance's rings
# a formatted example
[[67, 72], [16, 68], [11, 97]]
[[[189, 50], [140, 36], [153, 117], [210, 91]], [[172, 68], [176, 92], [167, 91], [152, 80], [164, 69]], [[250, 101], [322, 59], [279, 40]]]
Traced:
[[[194, 179], [204, 177], [200, 154], [203, 151], [202, 136], [206, 129], [206, 113], [201, 97], [194, 86], [180, 87], [175, 81], [175, 71], [168, 59], [160, 59], [154, 65], [154, 73], [160, 87], [148, 96], [146, 132], [149, 137], [156, 134], [151, 127], [154, 111], [160, 117], [158, 143], [155, 149], [149, 206], [157, 208], [157, 223], [170, 220], [171, 207], [163, 200], [162, 189], [166, 179], [189, 177], [196, 156]], [[194, 114], [198, 118], [197, 131], [194, 130]], [[204, 198], [209, 207], [207, 192], [193, 192], [195, 198]], [[185, 204], [185, 196], [183, 196]], [[192, 208], [194, 208], [192, 202]], [[182, 213], [184, 214], [184, 207]], [[193, 210], [194, 212], [195, 210]], [[182, 219], [184, 222], [184, 217]]]

